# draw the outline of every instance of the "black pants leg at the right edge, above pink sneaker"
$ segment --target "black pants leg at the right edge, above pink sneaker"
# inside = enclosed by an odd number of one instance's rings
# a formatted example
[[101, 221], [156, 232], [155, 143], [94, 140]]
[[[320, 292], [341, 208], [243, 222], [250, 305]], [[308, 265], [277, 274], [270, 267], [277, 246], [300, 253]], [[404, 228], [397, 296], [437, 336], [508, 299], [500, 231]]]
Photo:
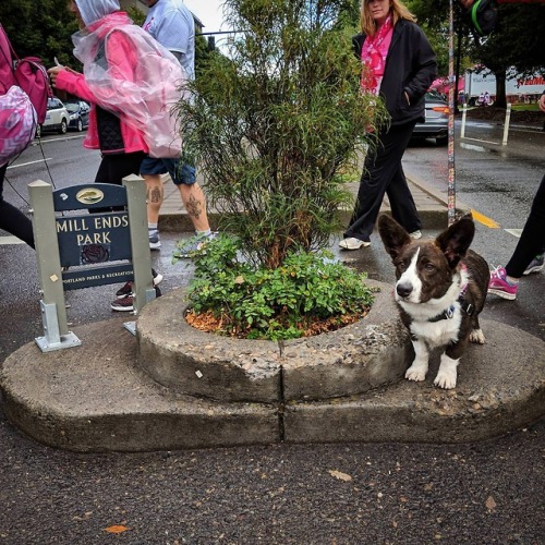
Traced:
[[506, 265], [506, 272], [520, 278], [530, 262], [545, 250], [545, 175], [542, 178], [537, 193], [532, 202], [530, 216], [514, 252]]

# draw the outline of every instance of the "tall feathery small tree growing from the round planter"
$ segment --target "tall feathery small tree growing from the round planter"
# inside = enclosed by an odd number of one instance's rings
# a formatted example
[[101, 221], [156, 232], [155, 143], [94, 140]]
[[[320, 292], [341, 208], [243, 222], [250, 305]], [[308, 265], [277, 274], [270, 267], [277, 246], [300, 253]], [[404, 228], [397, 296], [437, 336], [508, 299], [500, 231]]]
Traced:
[[386, 119], [360, 90], [354, 29], [339, 28], [350, 3], [226, 0], [238, 31], [229, 56], [211, 56], [179, 105], [185, 153], [226, 213], [222, 230], [269, 268], [328, 244], [351, 198], [343, 174], [372, 144], [366, 129]]

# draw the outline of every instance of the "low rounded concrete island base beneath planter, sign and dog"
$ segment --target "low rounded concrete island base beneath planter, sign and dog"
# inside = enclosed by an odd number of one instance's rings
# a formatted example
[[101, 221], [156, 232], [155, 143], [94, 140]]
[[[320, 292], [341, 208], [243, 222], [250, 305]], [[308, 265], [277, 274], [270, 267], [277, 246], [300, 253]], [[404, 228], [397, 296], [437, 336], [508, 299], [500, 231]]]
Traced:
[[[5, 413], [23, 432], [82, 452], [281, 441], [473, 441], [545, 414], [545, 343], [495, 322], [482, 326], [487, 344], [470, 347], [453, 390], [433, 386], [435, 353], [424, 383], [401, 379], [360, 395], [305, 400], [312, 392], [296, 385], [306, 378], [287, 374], [284, 386], [292, 382], [296, 392], [291, 399], [282, 393], [275, 402], [228, 402], [186, 396], [160, 386], [136, 365], [137, 342], [121, 318], [74, 328], [83, 341], [77, 348], [44, 354], [35, 343], [23, 346], [5, 360], [0, 386]], [[328, 350], [341, 351], [335, 335], [327, 335]], [[308, 373], [319, 377], [314, 382], [319, 390], [323, 375], [313, 368], [316, 362], [305, 361]]]

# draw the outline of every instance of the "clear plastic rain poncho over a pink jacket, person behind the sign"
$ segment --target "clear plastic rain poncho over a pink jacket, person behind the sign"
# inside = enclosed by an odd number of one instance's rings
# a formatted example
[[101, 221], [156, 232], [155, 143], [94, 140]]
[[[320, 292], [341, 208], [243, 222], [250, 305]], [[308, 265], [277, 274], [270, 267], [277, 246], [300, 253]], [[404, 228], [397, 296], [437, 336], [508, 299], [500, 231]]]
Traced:
[[170, 51], [124, 12], [72, 36], [95, 101], [144, 135], [152, 157], [179, 157], [182, 141], [172, 107], [186, 96], [184, 70]]

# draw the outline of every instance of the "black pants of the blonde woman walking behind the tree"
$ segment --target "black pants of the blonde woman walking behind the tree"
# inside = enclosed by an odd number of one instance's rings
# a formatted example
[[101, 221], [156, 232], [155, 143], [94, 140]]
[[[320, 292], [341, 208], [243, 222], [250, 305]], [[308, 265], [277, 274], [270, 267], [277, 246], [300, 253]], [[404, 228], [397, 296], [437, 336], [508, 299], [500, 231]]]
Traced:
[[416, 205], [407, 185], [401, 159], [416, 122], [390, 126], [378, 135], [376, 149], [365, 157], [354, 213], [344, 237], [368, 241], [375, 227], [385, 193], [391, 215], [408, 232], [422, 228]]

